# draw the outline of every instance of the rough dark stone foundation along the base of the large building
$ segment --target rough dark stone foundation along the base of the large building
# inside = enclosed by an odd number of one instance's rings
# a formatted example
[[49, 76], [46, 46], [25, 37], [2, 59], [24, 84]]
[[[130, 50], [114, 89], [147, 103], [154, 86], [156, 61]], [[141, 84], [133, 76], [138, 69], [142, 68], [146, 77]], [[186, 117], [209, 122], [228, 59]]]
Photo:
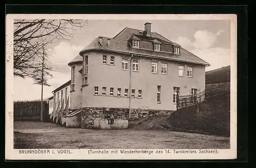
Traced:
[[[131, 109], [131, 119], [139, 117], [168, 116], [173, 110], [151, 110], [151, 109]], [[81, 111], [81, 128], [93, 128], [94, 119], [103, 119], [113, 114], [116, 119], [129, 119], [129, 108], [104, 108], [104, 107], [83, 107]]]

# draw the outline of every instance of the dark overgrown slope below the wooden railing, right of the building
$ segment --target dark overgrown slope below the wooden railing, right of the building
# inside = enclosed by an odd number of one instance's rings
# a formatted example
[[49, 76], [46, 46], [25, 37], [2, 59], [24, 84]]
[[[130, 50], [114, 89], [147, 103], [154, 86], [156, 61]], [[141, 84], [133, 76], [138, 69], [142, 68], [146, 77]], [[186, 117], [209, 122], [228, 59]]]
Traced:
[[[216, 95], [218, 94], [218, 95]], [[216, 95], [211, 97], [212, 95]], [[168, 118], [168, 125], [213, 135], [229, 136], [230, 132], [230, 83], [206, 85], [205, 102], [180, 109]]]

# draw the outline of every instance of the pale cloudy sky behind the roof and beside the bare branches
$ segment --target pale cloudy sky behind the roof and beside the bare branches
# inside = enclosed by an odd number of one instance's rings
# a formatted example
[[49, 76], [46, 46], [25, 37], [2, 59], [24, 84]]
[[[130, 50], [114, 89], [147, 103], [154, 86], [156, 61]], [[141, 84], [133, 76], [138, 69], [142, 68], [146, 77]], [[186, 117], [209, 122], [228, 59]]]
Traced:
[[[190, 53], [208, 62], [206, 71], [230, 65], [229, 20], [87, 20], [84, 27], [74, 31], [72, 40], [59, 40], [50, 46], [49, 64], [53, 77], [44, 86], [43, 97], [71, 78], [68, 63], [98, 36], [114, 37], [125, 27], [144, 30], [144, 23], [151, 22], [151, 31], [180, 44]], [[14, 101], [39, 100], [41, 86], [31, 79], [14, 77]]]

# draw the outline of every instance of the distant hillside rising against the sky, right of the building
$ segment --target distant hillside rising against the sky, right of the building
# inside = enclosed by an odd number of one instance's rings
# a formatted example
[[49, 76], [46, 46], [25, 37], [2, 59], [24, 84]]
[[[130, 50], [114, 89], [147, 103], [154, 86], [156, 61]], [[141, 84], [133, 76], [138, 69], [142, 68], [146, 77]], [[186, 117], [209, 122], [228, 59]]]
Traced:
[[230, 82], [230, 65], [205, 72], [205, 84]]

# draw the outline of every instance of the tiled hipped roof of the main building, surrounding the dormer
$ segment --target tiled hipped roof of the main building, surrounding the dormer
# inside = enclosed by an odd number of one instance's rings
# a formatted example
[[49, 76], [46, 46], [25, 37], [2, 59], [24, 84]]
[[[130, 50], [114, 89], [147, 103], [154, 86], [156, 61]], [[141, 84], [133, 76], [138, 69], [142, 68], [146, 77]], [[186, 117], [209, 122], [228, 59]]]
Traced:
[[[114, 38], [102, 37], [102, 45], [99, 44], [99, 37], [97, 37], [88, 46], [86, 46], [85, 49], [80, 51], [79, 54], [82, 55], [84, 52], [92, 51], [92, 50], [101, 50], [101, 51], [119, 52], [124, 54], [134, 54], [138, 56], [145, 56], [145, 57], [147, 56], [147, 57], [162, 58], [162, 59], [176, 60], [176, 61], [189, 62], [189, 63], [196, 63], [196, 64], [202, 64], [202, 65], [209, 65], [209, 63], [195, 56], [194, 54], [186, 51], [182, 47], [180, 49], [180, 55], [175, 55], [175, 54], [166, 53], [166, 52], [155, 52], [151, 50], [132, 48], [129, 46], [128, 40], [134, 35], [136, 35], [137, 37], [140, 37], [143, 35], [143, 33], [141, 33], [140, 30], [125, 28], [120, 33], [118, 33]], [[149, 40], [157, 39], [161, 42], [179, 46], [179, 44], [166, 39], [165, 37], [161, 36], [156, 32], [151, 32], [151, 37], [148, 37], [148, 38], [150, 38]], [[108, 45], [108, 39], [110, 39], [110, 45]]]

